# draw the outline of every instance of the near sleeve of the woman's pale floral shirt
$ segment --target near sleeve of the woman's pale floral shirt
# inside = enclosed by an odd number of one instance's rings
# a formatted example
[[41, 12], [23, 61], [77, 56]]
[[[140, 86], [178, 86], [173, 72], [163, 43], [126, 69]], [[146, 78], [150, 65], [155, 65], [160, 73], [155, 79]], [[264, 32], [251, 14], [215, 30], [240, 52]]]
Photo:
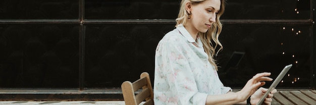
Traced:
[[164, 51], [161, 51], [161, 63], [164, 68], [161, 68], [166, 76], [170, 91], [174, 94], [175, 101], [178, 104], [205, 104], [206, 93], [199, 93], [192, 70], [190, 69], [190, 62], [185, 55], [186, 50], [183, 45], [175, 41], [165, 43]]

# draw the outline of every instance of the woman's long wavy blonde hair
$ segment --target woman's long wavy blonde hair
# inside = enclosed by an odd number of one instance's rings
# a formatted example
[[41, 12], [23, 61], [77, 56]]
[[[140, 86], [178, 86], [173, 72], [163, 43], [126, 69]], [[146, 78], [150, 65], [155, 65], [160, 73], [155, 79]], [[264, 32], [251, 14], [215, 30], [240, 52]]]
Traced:
[[[188, 1], [190, 1], [192, 5], [196, 5], [207, 0], [182, 0], [181, 5], [180, 5], [179, 15], [178, 15], [178, 18], [176, 19], [177, 25], [179, 24], [185, 25], [188, 20], [189, 15], [185, 9], [185, 5]], [[219, 41], [219, 35], [222, 32], [222, 27], [223, 27], [220, 21], [220, 17], [224, 13], [225, 4], [226, 4], [225, 0], [220, 0], [220, 1], [221, 1], [221, 9], [216, 15], [216, 22], [212, 24], [212, 27], [209, 28], [207, 32], [198, 33], [203, 43], [204, 51], [208, 55], [208, 61], [210, 62], [210, 64], [212, 64], [215, 67], [216, 70], [218, 70], [218, 66], [216, 65], [216, 60], [213, 57], [217, 56], [219, 51], [223, 49], [223, 46], [221, 42]], [[218, 47], [219, 49], [218, 51], [216, 51]]]

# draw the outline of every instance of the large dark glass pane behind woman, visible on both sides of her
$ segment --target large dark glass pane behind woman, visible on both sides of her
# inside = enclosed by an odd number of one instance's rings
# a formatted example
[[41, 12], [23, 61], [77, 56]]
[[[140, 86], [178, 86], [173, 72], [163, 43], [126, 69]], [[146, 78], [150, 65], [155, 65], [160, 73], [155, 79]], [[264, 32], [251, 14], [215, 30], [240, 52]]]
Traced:
[[[173, 26], [87, 25], [85, 87], [118, 88], [144, 71], [153, 76], [154, 49]], [[278, 87], [310, 87], [309, 25], [224, 25], [220, 40], [224, 50], [217, 59], [225, 85], [243, 87], [259, 72], [271, 72], [275, 78], [285, 65], [293, 64]], [[229, 67], [228, 62], [236, 62], [230, 60], [234, 51], [244, 55], [237, 66]]]

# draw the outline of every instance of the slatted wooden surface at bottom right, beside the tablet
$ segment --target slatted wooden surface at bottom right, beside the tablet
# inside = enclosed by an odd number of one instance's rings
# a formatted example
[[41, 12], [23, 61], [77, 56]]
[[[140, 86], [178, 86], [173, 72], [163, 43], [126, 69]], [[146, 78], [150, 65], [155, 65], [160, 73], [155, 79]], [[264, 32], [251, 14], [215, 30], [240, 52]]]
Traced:
[[274, 94], [272, 104], [316, 104], [316, 90], [281, 90]]

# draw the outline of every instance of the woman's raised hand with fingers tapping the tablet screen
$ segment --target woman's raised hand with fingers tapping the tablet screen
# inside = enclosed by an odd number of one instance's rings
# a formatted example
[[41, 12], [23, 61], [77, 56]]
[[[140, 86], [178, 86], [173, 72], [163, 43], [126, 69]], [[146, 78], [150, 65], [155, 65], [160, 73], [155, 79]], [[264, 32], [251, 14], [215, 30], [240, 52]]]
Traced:
[[253, 76], [246, 85], [238, 91], [239, 99], [241, 101], [246, 100], [249, 96], [251, 96], [259, 87], [266, 84], [265, 81], [272, 81], [273, 79], [267, 76], [270, 76], [271, 73], [258, 73], [255, 76]]

